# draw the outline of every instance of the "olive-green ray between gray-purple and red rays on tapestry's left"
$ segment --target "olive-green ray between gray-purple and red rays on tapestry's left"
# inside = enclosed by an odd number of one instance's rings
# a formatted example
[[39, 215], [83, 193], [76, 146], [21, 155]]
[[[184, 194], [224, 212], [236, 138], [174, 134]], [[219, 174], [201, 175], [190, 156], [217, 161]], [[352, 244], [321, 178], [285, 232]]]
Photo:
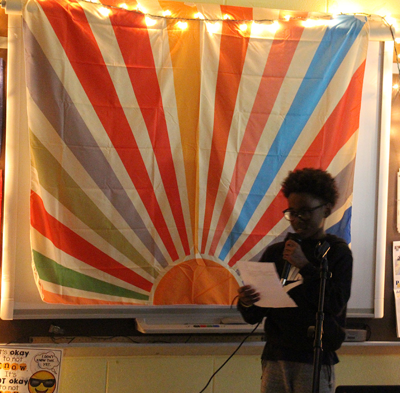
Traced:
[[39, 173], [40, 185], [136, 266], [140, 266], [148, 274], [156, 277], [158, 271], [140, 255], [115, 225], [103, 214], [31, 130], [30, 147], [32, 152], [32, 166]]

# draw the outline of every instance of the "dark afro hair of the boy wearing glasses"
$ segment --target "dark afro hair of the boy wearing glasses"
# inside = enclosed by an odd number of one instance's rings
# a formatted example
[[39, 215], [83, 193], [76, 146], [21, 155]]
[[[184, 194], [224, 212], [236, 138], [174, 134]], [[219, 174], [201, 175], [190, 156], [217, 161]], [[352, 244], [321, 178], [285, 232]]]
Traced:
[[338, 198], [334, 178], [325, 170], [315, 168], [290, 171], [282, 182], [282, 192], [286, 198], [292, 192], [305, 192], [332, 206]]

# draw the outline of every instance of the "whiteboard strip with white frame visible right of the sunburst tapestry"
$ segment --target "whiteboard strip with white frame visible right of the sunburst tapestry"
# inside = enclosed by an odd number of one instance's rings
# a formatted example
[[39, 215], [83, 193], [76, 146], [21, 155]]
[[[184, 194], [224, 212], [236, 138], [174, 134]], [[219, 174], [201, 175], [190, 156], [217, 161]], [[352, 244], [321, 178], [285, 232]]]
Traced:
[[348, 316], [383, 316], [392, 53], [391, 42], [368, 42], [354, 169]]

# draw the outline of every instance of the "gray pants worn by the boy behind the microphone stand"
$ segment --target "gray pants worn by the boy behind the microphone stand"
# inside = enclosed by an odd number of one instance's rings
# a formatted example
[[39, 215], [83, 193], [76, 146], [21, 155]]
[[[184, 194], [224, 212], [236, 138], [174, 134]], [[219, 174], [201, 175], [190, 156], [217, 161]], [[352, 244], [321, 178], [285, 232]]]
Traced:
[[[313, 365], [286, 360], [262, 360], [261, 393], [310, 393]], [[322, 365], [319, 393], [333, 393], [334, 366]]]

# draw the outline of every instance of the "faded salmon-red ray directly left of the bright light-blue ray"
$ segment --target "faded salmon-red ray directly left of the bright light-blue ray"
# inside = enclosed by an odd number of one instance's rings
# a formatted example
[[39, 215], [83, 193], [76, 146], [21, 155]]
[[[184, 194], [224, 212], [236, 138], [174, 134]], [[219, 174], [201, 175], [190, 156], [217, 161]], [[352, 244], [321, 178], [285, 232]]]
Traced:
[[[304, 13], [304, 17], [307, 14]], [[280, 17], [283, 17], [280, 15]], [[265, 63], [264, 72], [260, 81], [257, 95], [254, 100], [251, 114], [240, 145], [238, 157], [233, 168], [232, 178], [221, 213], [216, 225], [214, 237], [211, 242], [209, 254], [214, 255], [215, 248], [223, 233], [223, 229], [232, 213], [234, 203], [243, 183], [244, 176], [250, 165], [253, 153], [257, 147], [259, 138], [264, 130], [276, 96], [286, 76], [287, 69], [297, 48], [304, 27], [298, 20], [282, 24], [282, 28], [276, 31]], [[288, 40], [287, 37], [290, 36]], [[274, 70], [271, 75], [270, 70]]]

